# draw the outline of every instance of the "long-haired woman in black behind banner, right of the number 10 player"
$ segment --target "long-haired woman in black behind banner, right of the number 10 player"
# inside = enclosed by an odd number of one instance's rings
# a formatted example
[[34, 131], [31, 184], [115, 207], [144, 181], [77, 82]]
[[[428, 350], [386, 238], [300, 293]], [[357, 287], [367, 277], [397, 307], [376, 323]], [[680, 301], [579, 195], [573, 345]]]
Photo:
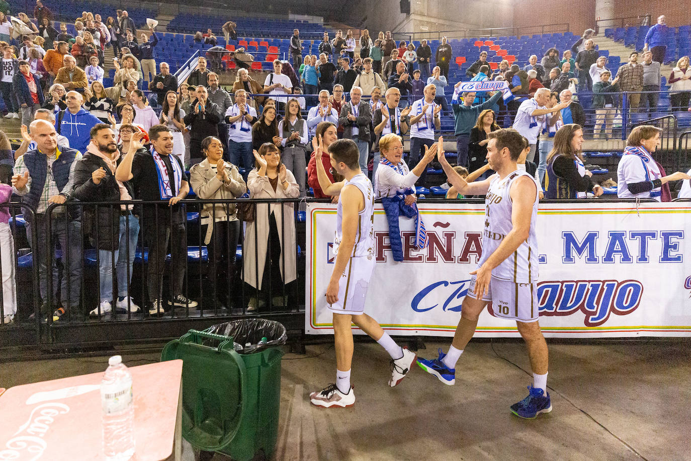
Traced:
[[546, 198], [586, 198], [586, 192], [595, 196], [603, 194], [603, 188], [593, 182], [593, 173], [583, 164], [583, 128], [569, 123], [554, 135], [554, 147], [547, 156]]

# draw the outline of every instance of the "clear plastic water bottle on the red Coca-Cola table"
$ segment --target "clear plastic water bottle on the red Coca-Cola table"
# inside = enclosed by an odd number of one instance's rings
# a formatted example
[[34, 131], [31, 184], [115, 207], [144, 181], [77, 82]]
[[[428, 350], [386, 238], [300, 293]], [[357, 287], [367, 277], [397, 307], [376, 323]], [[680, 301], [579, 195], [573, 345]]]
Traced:
[[108, 359], [101, 381], [103, 451], [107, 461], [129, 460], [134, 455], [134, 399], [132, 375], [122, 357]]

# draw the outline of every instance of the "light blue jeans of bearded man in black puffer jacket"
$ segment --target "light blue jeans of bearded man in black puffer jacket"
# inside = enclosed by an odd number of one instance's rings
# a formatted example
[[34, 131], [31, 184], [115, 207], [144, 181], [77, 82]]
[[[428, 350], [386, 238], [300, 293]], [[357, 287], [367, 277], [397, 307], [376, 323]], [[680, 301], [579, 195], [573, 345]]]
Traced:
[[[127, 222], [128, 218], [129, 223]], [[120, 216], [120, 243], [117, 250], [114, 252], [98, 250], [101, 301], [113, 301], [113, 260], [115, 260], [115, 274], [117, 276], [117, 296], [126, 297], [129, 295], [132, 263], [134, 262], [135, 250], [137, 249], [138, 236], [139, 218], [133, 214], [130, 216]], [[127, 274], [128, 270], [129, 276]]]

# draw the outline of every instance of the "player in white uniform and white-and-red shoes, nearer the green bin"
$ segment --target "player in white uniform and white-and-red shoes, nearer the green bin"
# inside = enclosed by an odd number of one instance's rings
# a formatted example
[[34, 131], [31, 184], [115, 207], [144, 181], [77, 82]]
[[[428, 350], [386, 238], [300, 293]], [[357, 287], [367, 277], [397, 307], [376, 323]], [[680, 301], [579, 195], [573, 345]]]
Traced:
[[[336, 236], [334, 238], [334, 272], [326, 289], [328, 309], [333, 313], [334, 341], [336, 343], [336, 383], [322, 391], [310, 394], [310, 402], [317, 406], [352, 406], [355, 395], [350, 386], [350, 364], [353, 339], [350, 324], [354, 323], [375, 339], [391, 356], [392, 375], [389, 386], [399, 384], [410, 366], [415, 353], [401, 348], [379, 326], [375, 319], [364, 313], [365, 298], [372, 271], [375, 268], [375, 235], [373, 229], [375, 193], [372, 183], [359, 167], [359, 150], [352, 140], [337, 140], [322, 151], [321, 140], [312, 141], [316, 156], [316, 173], [324, 194], [339, 196]], [[345, 180], [332, 184], [322, 155], [329, 155], [331, 166]]]

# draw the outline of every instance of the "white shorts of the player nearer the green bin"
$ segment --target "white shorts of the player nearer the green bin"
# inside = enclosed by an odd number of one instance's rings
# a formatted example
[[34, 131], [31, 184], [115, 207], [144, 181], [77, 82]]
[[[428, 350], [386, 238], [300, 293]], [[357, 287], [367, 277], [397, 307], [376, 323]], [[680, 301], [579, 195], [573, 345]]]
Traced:
[[375, 270], [374, 256], [352, 256], [339, 280], [339, 300], [329, 305], [337, 314], [360, 315], [365, 310], [365, 298]]

